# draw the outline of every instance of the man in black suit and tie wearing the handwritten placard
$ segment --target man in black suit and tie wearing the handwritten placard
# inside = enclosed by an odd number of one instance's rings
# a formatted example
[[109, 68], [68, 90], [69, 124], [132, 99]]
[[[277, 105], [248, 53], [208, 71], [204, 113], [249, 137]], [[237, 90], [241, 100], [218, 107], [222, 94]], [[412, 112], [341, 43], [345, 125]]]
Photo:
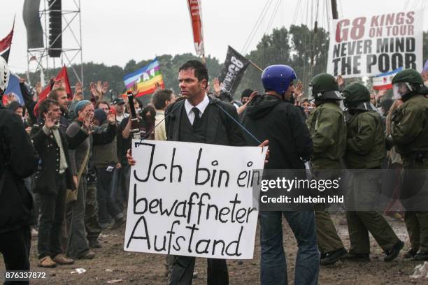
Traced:
[[[199, 142], [213, 145], [245, 146], [245, 138], [237, 122], [234, 105], [206, 94], [208, 71], [201, 61], [190, 60], [180, 66], [178, 82], [185, 100], [166, 109], [166, 138], [180, 142]], [[267, 145], [265, 141], [261, 146]], [[175, 256], [170, 284], [192, 284], [195, 258]], [[208, 284], [229, 284], [224, 259], [208, 258]]]

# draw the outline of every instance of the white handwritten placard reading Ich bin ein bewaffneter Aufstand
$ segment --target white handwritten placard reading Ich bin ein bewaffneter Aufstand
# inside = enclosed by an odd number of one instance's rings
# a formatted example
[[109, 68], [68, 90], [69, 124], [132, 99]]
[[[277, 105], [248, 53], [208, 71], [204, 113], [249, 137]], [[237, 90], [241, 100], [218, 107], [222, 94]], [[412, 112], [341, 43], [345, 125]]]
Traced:
[[252, 182], [262, 178], [266, 147], [135, 143], [125, 251], [252, 258]]

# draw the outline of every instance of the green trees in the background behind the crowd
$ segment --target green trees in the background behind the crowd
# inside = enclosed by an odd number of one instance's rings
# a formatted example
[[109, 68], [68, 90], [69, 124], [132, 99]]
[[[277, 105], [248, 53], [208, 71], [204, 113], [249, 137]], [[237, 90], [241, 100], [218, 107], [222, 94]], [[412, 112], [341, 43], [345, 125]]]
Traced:
[[[424, 32], [423, 42], [428, 42], [428, 32]], [[256, 50], [252, 50], [245, 57], [257, 64], [260, 68], [265, 68], [271, 64], [287, 64], [292, 66], [297, 73], [297, 78], [304, 82], [304, 87], [307, 89], [309, 80], [318, 73], [323, 73], [327, 70], [327, 57], [329, 48], [329, 34], [322, 28], [318, 28], [316, 32], [309, 29], [305, 25], [292, 25], [289, 29], [282, 27], [273, 29], [271, 34], [266, 34], [257, 44]], [[225, 56], [225, 54], [224, 54]], [[428, 45], [423, 45], [423, 57], [428, 59]], [[194, 54], [162, 54], [157, 56], [160, 64], [160, 71], [164, 78], [165, 87], [173, 89], [179, 93], [178, 88], [178, 68], [181, 64], [189, 59], [199, 59]], [[83, 74], [85, 76], [85, 94], [89, 96], [90, 82], [108, 81], [110, 89], [115, 90], [114, 93], [122, 93], [124, 90], [123, 76], [136, 71], [138, 68], [148, 65], [153, 59], [144, 59], [136, 61], [131, 59], [125, 64], [124, 68], [120, 66], [106, 66], [104, 64], [95, 64], [87, 62], [83, 64]], [[224, 59], [223, 59], [224, 60]], [[206, 57], [206, 65], [208, 67], [208, 75], [212, 80], [220, 75], [223, 64], [215, 58]], [[80, 71], [80, 66], [76, 66], [76, 70]], [[59, 68], [51, 69], [45, 78], [57, 75]], [[68, 68], [71, 85], [76, 83], [76, 75]], [[239, 98], [243, 89], [251, 88], [264, 92], [260, 76], [262, 72], [254, 66], [249, 66], [239, 85], [235, 98]], [[20, 75], [27, 77], [27, 75]], [[40, 80], [39, 73], [30, 74], [31, 83], [35, 85], [36, 81]], [[210, 81], [211, 81], [210, 80]], [[353, 80], [346, 80], [347, 83]], [[370, 80], [369, 80], [370, 81]], [[371, 85], [371, 82], [369, 82]]]

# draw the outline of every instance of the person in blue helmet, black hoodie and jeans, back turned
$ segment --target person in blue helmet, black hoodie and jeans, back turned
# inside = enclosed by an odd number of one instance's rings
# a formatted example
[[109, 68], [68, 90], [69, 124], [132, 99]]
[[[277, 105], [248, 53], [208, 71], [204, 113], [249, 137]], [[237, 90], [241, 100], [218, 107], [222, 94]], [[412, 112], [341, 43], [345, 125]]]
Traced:
[[[311, 157], [313, 145], [301, 111], [290, 103], [295, 79], [290, 66], [268, 66], [262, 73], [266, 93], [252, 99], [243, 124], [258, 140], [269, 140], [266, 170], [297, 169], [296, 175], [303, 176], [304, 161]], [[248, 145], [257, 145], [249, 136], [246, 140]], [[287, 284], [282, 215], [299, 244], [294, 284], [318, 284], [320, 257], [313, 210], [259, 212], [261, 284]]]

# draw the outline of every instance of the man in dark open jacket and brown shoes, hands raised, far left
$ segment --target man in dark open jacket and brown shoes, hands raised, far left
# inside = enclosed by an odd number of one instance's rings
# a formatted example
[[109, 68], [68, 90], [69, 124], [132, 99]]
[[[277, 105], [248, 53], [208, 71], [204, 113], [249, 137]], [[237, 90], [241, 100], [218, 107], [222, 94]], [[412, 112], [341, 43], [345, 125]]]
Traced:
[[38, 227], [38, 266], [51, 268], [57, 264], [72, 264], [62, 254], [61, 229], [64, 221], [66, 189], [76, 191], [71, 173], [69, 149], [76, 149], [90, 133], [90, 119], [76, 136], [67, 136], [59, 128], [62, 112], [59, 103], [45, 99], [38, 106], [38, 124], [31, 130], [31, 139], [41, 157], [34, 177], [34, 192], [41, 200], [41, 217]]

